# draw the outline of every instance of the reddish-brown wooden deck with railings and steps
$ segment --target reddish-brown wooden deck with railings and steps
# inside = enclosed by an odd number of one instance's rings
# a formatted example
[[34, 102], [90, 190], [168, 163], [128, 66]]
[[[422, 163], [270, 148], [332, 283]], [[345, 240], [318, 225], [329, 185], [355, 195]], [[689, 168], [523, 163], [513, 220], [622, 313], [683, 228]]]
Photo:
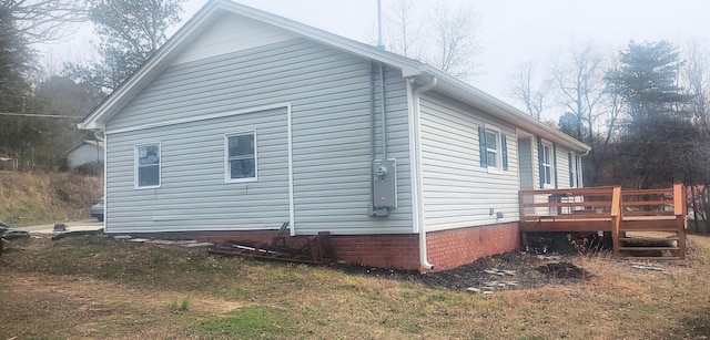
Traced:
[[524, 241], [529, 233], [604, 231], [611, 235], [616, 255], [684, 259], [684, 193], [680, 184], [647, 190], [620, 186], [520, 190], [520, 231]]

